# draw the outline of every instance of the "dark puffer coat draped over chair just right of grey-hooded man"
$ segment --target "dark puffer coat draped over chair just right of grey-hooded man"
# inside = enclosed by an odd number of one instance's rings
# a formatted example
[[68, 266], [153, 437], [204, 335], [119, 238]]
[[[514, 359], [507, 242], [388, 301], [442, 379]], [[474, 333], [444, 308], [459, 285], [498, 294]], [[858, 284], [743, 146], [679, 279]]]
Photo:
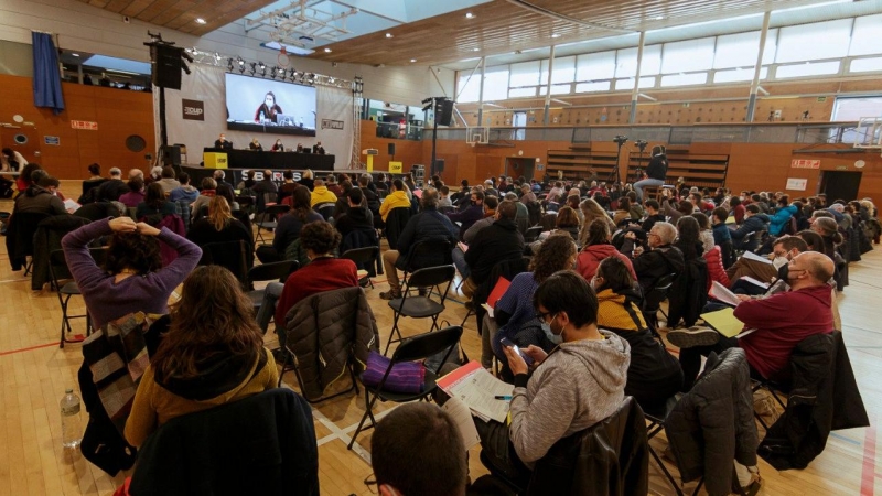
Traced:
[[665, 433], [685, 483], [704, 476], [710, 496], [730, 494], [732, 461], [756, 465], [759, 444], [743, 349], [711, 353], [704, 373], [665, 420]]

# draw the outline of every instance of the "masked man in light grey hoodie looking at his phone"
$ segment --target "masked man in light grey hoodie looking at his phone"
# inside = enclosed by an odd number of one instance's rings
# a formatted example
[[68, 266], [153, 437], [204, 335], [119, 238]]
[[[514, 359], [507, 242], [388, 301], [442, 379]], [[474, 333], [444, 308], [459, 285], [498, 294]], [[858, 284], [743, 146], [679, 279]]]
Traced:
[[558, 441], [613, 414], [624, 400], [631, 346], [598, 327], [598, 299], [588, 281], [571, 270], [542, 281], [533, 295], [536, 317], [560, 344], [550, 353], [506, 347], [515, 375], [510, 422], [475, 420], [482, 459], [520, 487], [534, 464]]

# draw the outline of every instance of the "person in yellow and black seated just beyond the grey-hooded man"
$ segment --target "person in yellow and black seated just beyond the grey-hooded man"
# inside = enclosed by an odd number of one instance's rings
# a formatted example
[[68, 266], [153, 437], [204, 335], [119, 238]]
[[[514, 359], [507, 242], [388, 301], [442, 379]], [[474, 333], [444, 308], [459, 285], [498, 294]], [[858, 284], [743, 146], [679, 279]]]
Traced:
[[631, 266], [617, 257], [605, 258], [590, 281], [600, 304], [598, 326], [631, 345], [625, 395], [633, 396], [644, 410], [658, 408], [682, 387], [682, 369], [646, 325]]

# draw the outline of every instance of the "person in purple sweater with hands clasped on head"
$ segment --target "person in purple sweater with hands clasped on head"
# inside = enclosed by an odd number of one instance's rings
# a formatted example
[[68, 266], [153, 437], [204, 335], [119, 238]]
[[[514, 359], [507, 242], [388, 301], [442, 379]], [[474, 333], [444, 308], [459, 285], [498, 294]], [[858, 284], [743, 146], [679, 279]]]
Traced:
[[[110, 236], [110, 244], [104, 267], [98, 267], [88, 245], [101, 236]], [[166, 267], [159, 241], [178, 251]], [[129, 217], [87, 224], [65, 235], [62, 248], [96, 328], [135, 312], [169, 313], [169, 296], [202, 257], [200, 247], [169, 228]]]

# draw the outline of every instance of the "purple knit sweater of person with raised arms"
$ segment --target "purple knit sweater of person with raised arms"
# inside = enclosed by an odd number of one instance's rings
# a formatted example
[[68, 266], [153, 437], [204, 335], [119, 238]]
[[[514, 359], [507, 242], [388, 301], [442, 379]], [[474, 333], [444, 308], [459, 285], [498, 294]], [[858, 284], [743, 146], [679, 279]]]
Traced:
[[96, 328], [135, 312], [169, 313], [169, 295], [202, 257], [196, 245], [163, 227], [158, 238], [178, 251], [178, 259], [147, 276], [130, 276], [119, 283], [95, 263], [88, 242], [112, 234], [109, 219], [96, 220], [62, 239], [67, 267], [74, 276]]

